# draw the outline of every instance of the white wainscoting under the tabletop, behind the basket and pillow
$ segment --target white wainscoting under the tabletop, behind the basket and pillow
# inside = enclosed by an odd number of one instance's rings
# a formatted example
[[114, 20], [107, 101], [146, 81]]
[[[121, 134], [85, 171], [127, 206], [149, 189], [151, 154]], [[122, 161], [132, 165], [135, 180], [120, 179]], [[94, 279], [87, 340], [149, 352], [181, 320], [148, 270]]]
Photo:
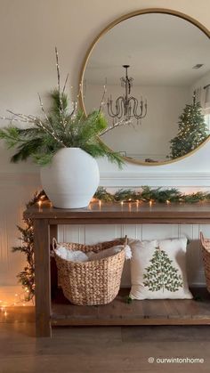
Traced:
[[[187, 272], [190, 285], [205, 284], [204, 269], [201, 257], [199, 231], [210, 237], [210, 227], [203, 225], [178, 224], [137, 224], [137, 225], [74, 225], [60, 226], [61, 242], [79, 242], [94, 244], [103, 240], [124, 237], [134, 239], [169, 239], [186, 236], [189, 239], [187, 248]], [[125, 263], [122, 287], [130, 286], [129, 261]]]

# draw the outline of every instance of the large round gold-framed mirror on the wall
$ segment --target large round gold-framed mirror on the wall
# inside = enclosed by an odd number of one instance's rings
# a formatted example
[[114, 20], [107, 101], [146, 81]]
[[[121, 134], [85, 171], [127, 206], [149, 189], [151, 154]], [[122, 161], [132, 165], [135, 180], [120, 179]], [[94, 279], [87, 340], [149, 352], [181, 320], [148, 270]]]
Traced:
[[209, 37], [196, 20], [166, 9], [126, 14], [101, 31], [83, 63], [81, 105], [88, 113], [102, 100], [112, 129], [101, 140], [110, 149], [155, 166], [209, 140]]

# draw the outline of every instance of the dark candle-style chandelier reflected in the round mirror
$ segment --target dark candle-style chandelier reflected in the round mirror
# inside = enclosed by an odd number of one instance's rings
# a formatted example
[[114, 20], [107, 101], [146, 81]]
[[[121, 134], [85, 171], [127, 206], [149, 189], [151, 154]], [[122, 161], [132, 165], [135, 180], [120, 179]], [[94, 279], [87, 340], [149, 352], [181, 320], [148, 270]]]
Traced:
[[117, 97], [114, 103], [112, 97], [107, 102], [107, 108], [109, 117], [117, 119], [123, 119], [125, 122], [131, 122], [133, 118], [137, 120], [137, 124], [140, 124], [140, 120], [145, 118], [147, 115], [148, 104], [147, 101], [138, 101], [135, 97], [130, 96], [131, 87], [133, 86], [133, 77], [128, 77], [127, 69], [130, 65], [123, 65], [125, 69], [125, 77], [121, 77], [121, 86], [125, 88], [125, 94]]

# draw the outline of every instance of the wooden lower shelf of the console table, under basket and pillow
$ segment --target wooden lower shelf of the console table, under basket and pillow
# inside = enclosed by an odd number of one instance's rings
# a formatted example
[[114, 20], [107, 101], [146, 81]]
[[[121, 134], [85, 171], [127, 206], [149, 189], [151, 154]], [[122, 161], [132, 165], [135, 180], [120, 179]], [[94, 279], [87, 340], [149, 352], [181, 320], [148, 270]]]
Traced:
[[91, 325], [210, 325], [210, 294], [191, 288], [196, 299], [134, 300], [125, 303], [128, 289], [121, 289], [110, 304], [70, 304], [58, 290], [52, 302], [52, 326]]

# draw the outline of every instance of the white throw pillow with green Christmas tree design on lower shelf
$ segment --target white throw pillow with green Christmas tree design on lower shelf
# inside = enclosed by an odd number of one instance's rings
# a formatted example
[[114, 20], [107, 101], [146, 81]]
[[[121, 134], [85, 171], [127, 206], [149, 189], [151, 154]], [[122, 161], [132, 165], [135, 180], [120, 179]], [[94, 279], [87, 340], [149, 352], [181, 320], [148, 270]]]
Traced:
[[192, 298], [186, 274], [186, 238], [129, 239], [128, 245], [132, 249], [131, 298]]

